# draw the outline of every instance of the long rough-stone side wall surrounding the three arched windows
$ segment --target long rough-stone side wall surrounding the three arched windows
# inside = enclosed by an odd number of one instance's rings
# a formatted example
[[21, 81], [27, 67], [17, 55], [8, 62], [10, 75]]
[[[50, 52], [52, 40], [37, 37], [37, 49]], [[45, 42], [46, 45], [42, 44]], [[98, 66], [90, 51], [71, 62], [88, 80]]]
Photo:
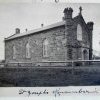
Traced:
[[[43, 41], [49, 42], [48, 57], [43, 57]], [[30, 45], [31, 58], [26, 58], [26, 44]], [[6, 62], [64, 61], [66, 59], [65, 26], [60, 26], [30, 36], [24, 36], [5, 42]], [[13, 59], [13, 46], [16, 59]]]

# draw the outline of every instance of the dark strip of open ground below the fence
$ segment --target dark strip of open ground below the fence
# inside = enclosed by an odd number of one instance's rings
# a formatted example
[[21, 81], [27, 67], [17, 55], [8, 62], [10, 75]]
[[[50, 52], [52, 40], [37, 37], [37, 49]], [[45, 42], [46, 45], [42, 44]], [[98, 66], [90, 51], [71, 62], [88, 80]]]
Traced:
[[0, 68], [0, 86], [100, 85], [100, 67], [10, 67]]

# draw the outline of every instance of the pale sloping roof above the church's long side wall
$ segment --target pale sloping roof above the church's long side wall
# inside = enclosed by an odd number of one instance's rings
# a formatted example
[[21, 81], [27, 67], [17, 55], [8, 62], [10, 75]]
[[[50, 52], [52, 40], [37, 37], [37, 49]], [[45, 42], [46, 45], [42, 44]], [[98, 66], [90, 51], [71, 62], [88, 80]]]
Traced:
[[63, 26], [63, 25], [65, 25], [64, 21], [57, 22], [57, 23], [54, 23], [54, 24], [51, 24], [51, 25], [48, 25], [48, 26], [44, 26], [42, 28], [30, 30], [30, 31], [27, 31], [27, 32], [24, 32], [24, 33], [14, 34], [14, 35], [12, 35], [12, 36], [10, 36], [8, 38], [5, 38], [5, 41], [6, 40], [15, 39], [15, 38], [18, 38], [18, 37], [22, 37], [22, 36], [26, 36], [26, 35], [35, 34], [37, 32], [45, 31], [45, 30], [48, 30], [48, 29], [51, 29], [51, 28], [55, 28], [55, 27], [59, 27], [59, 26]]

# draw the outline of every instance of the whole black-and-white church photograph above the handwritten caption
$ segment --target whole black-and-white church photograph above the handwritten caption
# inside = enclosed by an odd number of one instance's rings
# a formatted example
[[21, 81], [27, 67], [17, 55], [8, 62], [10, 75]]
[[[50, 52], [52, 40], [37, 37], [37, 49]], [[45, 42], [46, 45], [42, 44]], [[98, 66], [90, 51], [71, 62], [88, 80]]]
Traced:
[[60, 0], [0, 2], [0, 87], [99, 86], [99, 9]]

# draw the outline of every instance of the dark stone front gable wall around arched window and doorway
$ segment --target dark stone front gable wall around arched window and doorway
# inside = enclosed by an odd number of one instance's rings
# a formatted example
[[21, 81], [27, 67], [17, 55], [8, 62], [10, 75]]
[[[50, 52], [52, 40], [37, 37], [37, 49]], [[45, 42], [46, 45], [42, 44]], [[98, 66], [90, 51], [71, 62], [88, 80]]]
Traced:
[[[68, 19], [69, 20], [69, 19]], [[72, 22], [73, 21], [73, 22]], [[72, 59], [73, 60], [88, 60], [89, 59], [89, 49], [90, 49], [90, 40], [89, 35], [90, 32], [87, 29], [87, 26], [81, 16], [76, 19], [72, 19], [72, 25], [66, 24], [69, 28], [66, 28], [66, 38], [67, 38], [67, 50], [69, 49], [68, 54], [72, 50]], [[67, 21], [66, 21], [67, 23]], [[77, 40], [77, 25], [80, 24], [82, 27], [82, 41]], [[92, 34], [91, 34], [92, 35]], [[70, 37], [70, 38], [69, 38]], [[84, 59], [83, 51], [87, 51], [87, 58]], [[69, 57], [67, 59], [70, 59]]]

